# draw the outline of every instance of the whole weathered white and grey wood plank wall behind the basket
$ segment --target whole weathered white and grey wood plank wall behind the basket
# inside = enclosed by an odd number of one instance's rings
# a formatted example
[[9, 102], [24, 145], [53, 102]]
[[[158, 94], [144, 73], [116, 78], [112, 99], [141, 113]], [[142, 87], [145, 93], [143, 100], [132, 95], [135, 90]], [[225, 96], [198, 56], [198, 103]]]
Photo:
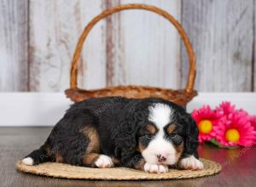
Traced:
[[[256, 0], [2, 0], [0, 91], [57, 92], [69, 87], [73, 50], [102, 10], [147, 3], [179, 20], [197, 56], [196, 89], [256, 90]], [[79, 63], [79, 86], [184, 87], [187, 54], [177, 31], [157, 14], [129, 10], [100, 21]]]

